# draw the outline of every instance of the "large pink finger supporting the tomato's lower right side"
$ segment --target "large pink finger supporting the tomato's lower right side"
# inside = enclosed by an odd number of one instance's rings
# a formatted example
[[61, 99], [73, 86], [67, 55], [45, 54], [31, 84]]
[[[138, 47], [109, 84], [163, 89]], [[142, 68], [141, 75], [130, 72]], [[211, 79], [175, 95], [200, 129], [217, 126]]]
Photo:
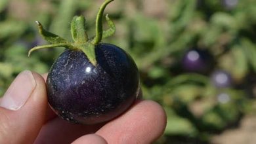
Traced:
[[108, 143], [153, 143], [163, 134], [166, 121], [165, 111], [158, 103], [143, 100], [96, 134]]

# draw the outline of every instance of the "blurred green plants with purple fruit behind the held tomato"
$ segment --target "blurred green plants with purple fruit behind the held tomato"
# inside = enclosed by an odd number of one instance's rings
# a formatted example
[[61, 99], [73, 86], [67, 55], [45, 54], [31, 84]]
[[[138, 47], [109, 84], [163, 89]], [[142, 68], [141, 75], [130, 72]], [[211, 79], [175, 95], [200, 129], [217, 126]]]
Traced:
[[[83, 14], [93, 35], [102, 1], [1, 0], [0, 96], [20, 71], [47, 73], [64, 50], [28, 58], [30, 48], [46, 43], [35, 20], [70, 39], [72, 17]], [[104, 42], [131, 54], [144, 98], [167, 112], [156, 143], [214, 143], [213, 135], [256, 114], [255, 7], [255, 0], [116, 0], [108, 6], [117, 31]]]

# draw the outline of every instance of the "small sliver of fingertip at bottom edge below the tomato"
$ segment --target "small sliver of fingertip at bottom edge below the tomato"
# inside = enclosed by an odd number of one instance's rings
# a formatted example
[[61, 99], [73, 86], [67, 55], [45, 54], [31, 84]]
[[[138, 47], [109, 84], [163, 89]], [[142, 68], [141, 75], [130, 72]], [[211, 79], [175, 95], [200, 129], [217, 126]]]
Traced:
[[79, 137], [76, 139], [72, 144], [89, 144], [89, 143], [94, 143], [94, 144], [107, 144], [107, 141], [101, 137], [100, 135], [96, 134], [87, 134]]

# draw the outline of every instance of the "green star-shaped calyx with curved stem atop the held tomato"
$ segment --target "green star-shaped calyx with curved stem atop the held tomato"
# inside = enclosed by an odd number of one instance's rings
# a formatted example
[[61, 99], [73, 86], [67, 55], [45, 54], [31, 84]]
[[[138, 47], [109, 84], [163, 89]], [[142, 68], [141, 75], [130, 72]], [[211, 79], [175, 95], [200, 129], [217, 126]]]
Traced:
[[28, 56], [35, 51], [42, 48], [54, 48], [54, 47], [65, 47], [70, 50], [81, 50], [85, 53], [85, 56], [89, 59], [89, 61], [96, 66], [96, 56], [95, 56], [95, 46], [100, 43], [100, 41], [105, 37], [110, 37], [116, 31], [116, 27], [114, 22], [108, 17], [106, 14], [106, 22], [108, 23], [108, 29], [103, 31], [102, 23], [103, 23], [103, 12], [108, 3], [114, 0], [105, 0], [104, 3], [101, 5], [100, 9], [98, 10], [98, 14], [96, 16], [96, 35], [95, 37], [88, 38], [86, 33], [86, 25], [85, 25], [85, 18], [83, 16], [74, 16], [71, 22], [71, 34], [73, 38], [73, 43], [70, 43], [66, 39], [55, 35], [43, 28], [40, 22], [37, 22], [37, 26], [39, 29], [39, 33], [43, 36], [45, 41], [51, 43], [50, 45], [43, 45], [43, 46], [35, 46], [28, 52]]

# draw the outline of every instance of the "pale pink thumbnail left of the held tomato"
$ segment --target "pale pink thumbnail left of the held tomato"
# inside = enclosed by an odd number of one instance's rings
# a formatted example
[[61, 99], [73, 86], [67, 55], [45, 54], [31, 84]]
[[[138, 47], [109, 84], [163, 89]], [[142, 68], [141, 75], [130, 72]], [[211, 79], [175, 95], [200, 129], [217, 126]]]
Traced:
[[20, 73], [9, 86], [0, 101], [0, 107], [10, 110], [20, 109], [30, 98], [36, 83], [31, 71]]

